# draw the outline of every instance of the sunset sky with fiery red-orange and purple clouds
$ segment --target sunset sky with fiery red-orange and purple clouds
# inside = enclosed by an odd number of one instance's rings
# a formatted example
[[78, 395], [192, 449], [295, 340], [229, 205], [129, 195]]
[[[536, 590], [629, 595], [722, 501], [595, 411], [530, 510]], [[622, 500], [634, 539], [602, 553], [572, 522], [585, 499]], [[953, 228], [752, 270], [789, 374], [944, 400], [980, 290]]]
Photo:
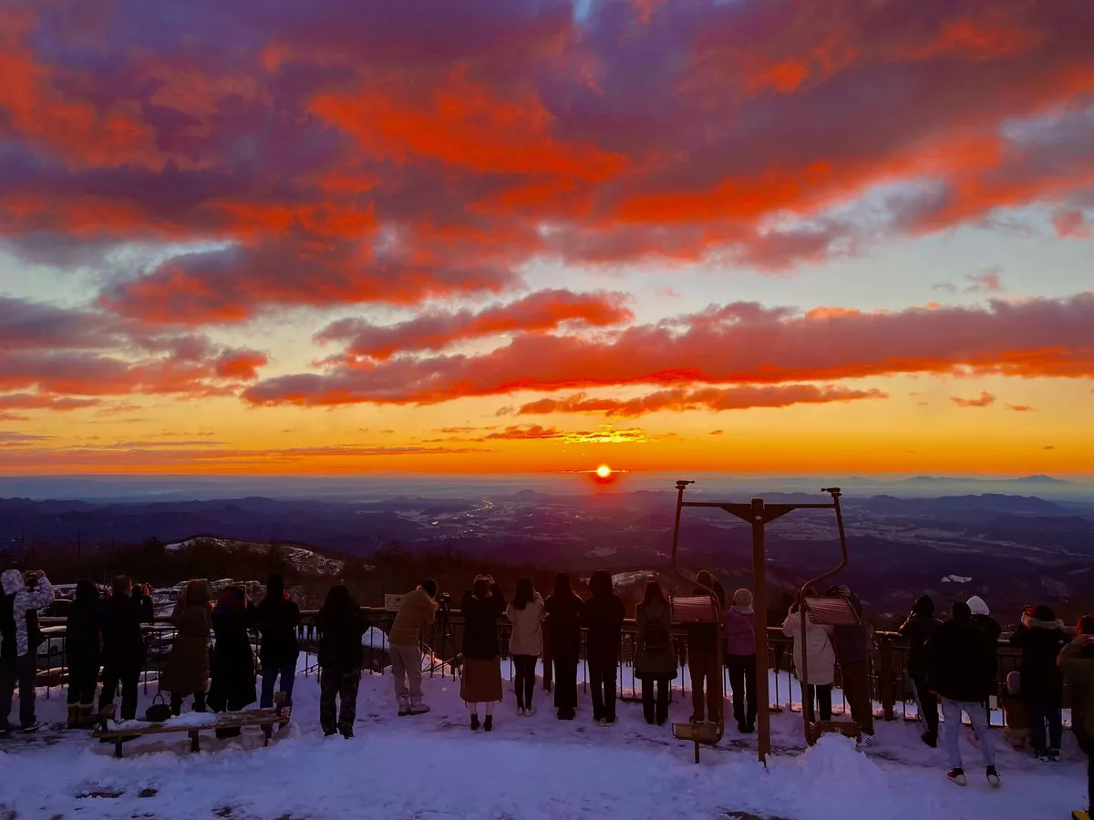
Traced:
[[1094, 475], [1094, 3], [7, 0], [0, 472]]

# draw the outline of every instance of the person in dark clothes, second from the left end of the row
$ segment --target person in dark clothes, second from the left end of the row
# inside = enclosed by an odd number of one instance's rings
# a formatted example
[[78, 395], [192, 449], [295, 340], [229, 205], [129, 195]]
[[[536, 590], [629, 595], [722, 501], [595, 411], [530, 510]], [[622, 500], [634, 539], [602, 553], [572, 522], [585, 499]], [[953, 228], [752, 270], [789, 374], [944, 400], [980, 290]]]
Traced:
[[103, 653], [103, 601], [90, 581], [75, 586], [65, 624], [65, 659], [69, 668], [68, 726], [95, 723], [95, 689]]

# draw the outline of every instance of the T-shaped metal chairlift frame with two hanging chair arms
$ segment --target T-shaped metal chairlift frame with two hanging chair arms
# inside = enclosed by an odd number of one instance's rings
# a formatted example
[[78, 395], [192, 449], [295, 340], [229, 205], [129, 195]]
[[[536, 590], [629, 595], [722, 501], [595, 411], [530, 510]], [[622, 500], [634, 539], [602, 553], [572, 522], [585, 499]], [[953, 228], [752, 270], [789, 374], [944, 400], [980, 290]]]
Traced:
[[[811, 618], [814, 623], [843, 623], [847, 621], [847, 611], [851, 612], [854, 623], [858, 623], [858, 617], [854, 610], [851, 608], [850, 604], [843, 598], [808, 598], [804, 597], [805, 589], [811, 585], [816, 584], [821, 581], [825, 581], [839, 572], [841, 572], [847, 566], [847, 535], [843, 530], [843, 514], [839, 506], [840, 489], [838, 487], [822, 488], [821, 492], [828, 493], [831, 496], [831, 503], [825, 504], [768, 504], [763, 499], [753, 499], [750, 503], [741, 502], [720, 502], [720, 501], [684, 501], [684, 491], [688, 485], [694, 484], [695, 481], [680, 480], [676, 482], [676, 523], [673, 527], [673, 573], [680, 579], [695, 584], [695, 579], [684, 574], [678, 564], [677, 552], [679, 547], [679, 535], [680, 535], [680, 513], [684, 507], [712, 507], [717, 509], [724, 509], [730, 515], [746, 522], [752, 527], [752, 540], [753, 540], [753, 609], [756, 613], [756, 730], [758, 739], [758, 754], [760, 763], [767, 764], [767, 755], [771, 751], [771, 715], [770, 715], [770, 694], [768, 691], [768, 653], [767, 653], [767, 548], [765, 543], [765, 528], [771, 522], [781, 518], [788, 513], [792, 513], [795, 509], [834, 509], [836, 512], [836, 524], [839, 528], [839, 541], [840, 549], [842, 553], [842, 560], [839, 566], [835, 570], [824, 573], [823, 575], [806, 582], [799, 591], [798, 599], [803, 601], [801, 607], [801, 617], [804, 625], [805, 612], [810, 611]], [[713, 590], [710, 590], [713, 596]], [[721, 608], [718, 606], [717, 597], [714, 597], [714, 609], [719, 617], [721, 616]], [[843, 601], [842, 605], [838, 601]], [[821, 620], [823, 619], [823, 620]], [[721, 626], [721, 624], [719, 624]], [[805, 635], [803, 630], [802, 635], [803, 645], [803, 656], [805, 655]], [[719, 658], [721, 658], [721, 630], [719, 629]], [[805, 677], [806, 670], [802, 670], [802, 677]], [[806, 693], [806, 684], [802, 684], [803, 695]], [[724, 692], [723, 692], [724, 698]], [[804, 696], [802, 698], [804, 701]], [[722, 708], [722, 722], [724, 724], [724, 713], [725, 708]], [[816, 737], [819, 736], [821, 731], [845, 731], [847, 728], [853, 728], [853, 731], [858, 730], [858, 727], [853, 724], [839, 724], [838, 728], [834, 728], [829, 724], [811, 724], [808, 721], [808, 713], [806, 712], [804, 704], [802, 707], [802, 719], [805, 724], [805, 739], [810, 745], [816, 742]], [[721, 725], [719, 726], [719, 731], [717, 731], [715, 737], [700, 737], [698, 731], [693, 730], [688, 733], [685, 729], [686, 725], [678, 725], [680, 730], [677, 730], [677, 726], [674, 726], [674, 734], [686, 740], [693, 740], [696, 745], [696, 762], [699, 762], [699, 743], [714, 745], [721, 740]]]

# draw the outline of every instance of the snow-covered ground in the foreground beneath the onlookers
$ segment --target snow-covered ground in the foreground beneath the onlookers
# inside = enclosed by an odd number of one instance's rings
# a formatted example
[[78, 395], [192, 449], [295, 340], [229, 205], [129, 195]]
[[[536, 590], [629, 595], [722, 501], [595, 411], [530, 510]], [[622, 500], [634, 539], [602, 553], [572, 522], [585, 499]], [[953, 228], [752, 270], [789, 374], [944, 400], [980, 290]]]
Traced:
[[[826, 737], [802, 753], [801, 715], [783, 713], [772, 716], [777, 753], [767, 770], [755, 739], [732, 728], [694, 765], [690, 746], [667, 726], [648, 726], [637, 703], [619, 705], [618, 726], [597, 728], [586, 693], [570, 723], [556, 719], [550, 695], [537, 689], [538, 713], [519, 718], [507, 686], [493, 733], [473, 734], [458, 681], [427, 677], [424, 689], [433, 711], [398, 717], [391, 677], [365, 675], [352, 740], [323, 738], [314, 675], [298, 679], [292, 724], [266, 749], [257, 729], [203, 737], [199, 754], [185, 735], [137, 740], [124, 760], [84, 733], [0, 740], [0, 817], [1039, 820], [1085, 806], [1085, 760], [1070, 737], [1064, 762], [1048, 764], [1003, 749], [994, 733], [999, 790], [989, 790], [979, 753], [964, 742], [970, 783], [962, 789], [946, 782], [943, 751], [923, 746], [915, 724], [878, 723], [865, 752]], [[152, 692], [141, 693], [141, 713]], [[38, 712], [63, 719], [63, 699], [40, 698]], [[672, 719], [688, 714], [675, 692]]]

